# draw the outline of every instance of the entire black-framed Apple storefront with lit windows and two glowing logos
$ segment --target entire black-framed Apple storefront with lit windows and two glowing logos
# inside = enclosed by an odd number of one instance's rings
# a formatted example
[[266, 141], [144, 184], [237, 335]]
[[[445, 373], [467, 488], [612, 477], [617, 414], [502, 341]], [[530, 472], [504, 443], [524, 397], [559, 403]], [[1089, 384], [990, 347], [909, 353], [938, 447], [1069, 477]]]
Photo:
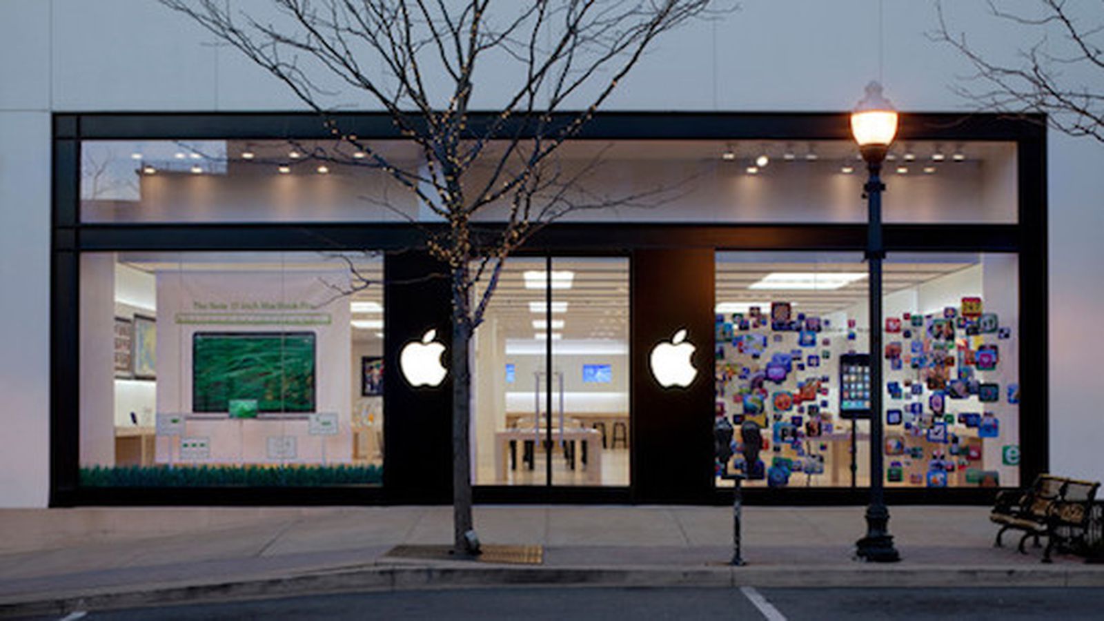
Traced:
[[[417, 161], [386, 117], [340, 123]], [[845, 115], [611, 113], [566, 143], [581, 191], [655, 200], [506, 261], [471, 341], [476, 501], [728, 502], [719, 421], [763, 430], [753, 503], [862, 502], [871, 451], [890, 502], [1044, 472], [1045, 130], [902, 123], [878, 326]], [[53, 505], [449, 502], [443, 224], [328, 136], [306, 114], [55, 115]]]

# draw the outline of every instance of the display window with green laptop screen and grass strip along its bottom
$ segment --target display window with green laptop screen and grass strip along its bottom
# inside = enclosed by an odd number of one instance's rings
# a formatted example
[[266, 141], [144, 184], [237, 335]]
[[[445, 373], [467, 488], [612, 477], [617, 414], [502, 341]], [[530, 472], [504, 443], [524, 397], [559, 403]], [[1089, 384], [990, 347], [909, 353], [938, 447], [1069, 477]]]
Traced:
[[83, 254], [81, 484], [380, 484], [382, 267], [370, 254]]

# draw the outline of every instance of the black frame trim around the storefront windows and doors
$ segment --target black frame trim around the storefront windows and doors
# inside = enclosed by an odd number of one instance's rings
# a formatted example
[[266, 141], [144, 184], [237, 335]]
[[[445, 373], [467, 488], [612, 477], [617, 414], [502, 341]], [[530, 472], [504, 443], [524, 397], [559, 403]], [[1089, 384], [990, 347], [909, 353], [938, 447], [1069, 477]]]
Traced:
[[[340, 127], [363, 138], [396, 138], [390, 119], [380, 114], [337, 115]], [[489, 118], [476, 115], [473, 125]], [[1021, 482], [1044, 472], [1049, 464], [1047, 387], [1047, 154], [1042, 117], [1009, 118], [995, 114], [909, 114], [902, 117], [901, 140], [1005, 140], [1018, 148], [1018, 222], [1016, 224], [890, 224], [885, 227], [889, 252], [1013, 252], [1020, 265], [1020, 325], [1042, 326], [1033, 338], [1019, 338], [1021, 412], [1019, 417], [1022, 463]], [[388, 463], [382, 487], [280, 487], [280, 488], [91, 488], [77, 482], [79, 455], [79, 255], [97, 251], [232, 251], [326, 250], [373, 248], [389, 253], [395, 270], [425, 267], [417, 252], [424, 233], [405, 224], [359, 222], [253, 223], [253, 224], [103, 224], [79, 222], [79, 148], [88, 139], [311, 139], [329, 138], [319, 118], [305, 113], [164, 114], [75, 113], [54, 115], [52, 262], [51, 262], [51, 435], [50, 504], [70, 505], [372, 505], [394, 503], [447, 503], [447, 394], [399, 394], [402, 382], [389, 385], [388, 403], [439, 410], [445, 417], [399, 424], [386, 422]], [[639, 112], [599, 114], [581, 139], [850, 139], [840, 113], [681, 113]], [[858, 198], [857, 198], [858, 200]], [[528, 255], [628, 255], [686, 250], [809, 250], [861, 251], [866, 227], [854, 224], [654, 224], [586, 223], [556, 224], [544, 229], [520, 254]], [[420, 267], [421, 265], [421, 267]], [[631, 263], [630, 263], [631, 265]], [[422, 292], [420, 292], [421, 295]], [[404, 294], [386, 291], [388, 308]], [[630, 292], [631, 295], [631, 292]], [[392, 298], [392, 296], [395, 296]], [[422, 295], [422, 298], [425, 296]], [[391, 326], [404, 322], [425, 323], [438, 316], [439, 292], [421, 316], [388, 314]], [[711, 301], [710, 301], [711, 303]], [[435, 315], [436, 314], [436, 315]], [[643, 320], [630, 309], [635, 330]], [[412, 324], [413, 325], [413, 324]], [[1022, 330], [1021, 330], [1022, 331]], [[391, 356], [402, 344], [385, 339]], [[394, 378], [394, 373], [389, 373]], [[1025, 378], [1040, 378], [1025, 381]], [[385, 380], [386, 381], [386, 380]], [[634, 391], [635, 392], [635, 391]], [[726, 504], [731, 491], [691, 486], [689, 494], [678, 482], [651, 485], [638, 476], [636, 446], [640, 440], [638, 403], [630, 404], [634, 473], [630, 487], [478, 486], [480, 503], [697, 503]], [[390, 417], [385, 420], [390, 421]], [[428, 435], [426, 425], [433, 427]], [[440, 429], [437, 429], [440, 427]], [[645, 425], [646, 427], [646, 425]], [[699, 430], [700, 431], [700, 430]], [[696, 433], [687, 430], [688, 433]], [[415, 440], [413, 434], [418, 434]], [[428, 438], [428, 440], [426, 440]], [[410, 454], [426, 448], [432, 460]], [[405, 448], [405, 450], [400, 450]], [[697, 444], [671, 444], [671, 460], [700, 459]], [[399, 453], [394, 451], [399, 450]], [[407, 459], [399, 455], [407, 454]], [[395, 461], [397, 460], [397, 461]], [[646, 470], [646, 469], [645, 469]], [[701, 488], [698, 488], [701, 487]], [[986, 488], [890, 488], [891, 504], [979, 504], [991, 501]], [[749, 504], [825, 505], [864, 504], [863, 488], [751, 488]]]

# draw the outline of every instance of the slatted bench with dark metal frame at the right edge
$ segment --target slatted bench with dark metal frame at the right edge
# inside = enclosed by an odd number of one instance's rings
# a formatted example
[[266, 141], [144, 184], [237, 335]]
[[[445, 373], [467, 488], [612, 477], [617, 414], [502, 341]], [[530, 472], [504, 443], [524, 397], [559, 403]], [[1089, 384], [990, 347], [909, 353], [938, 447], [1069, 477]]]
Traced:
[[1058, 545], [1066, 547], [1084, 539], [1098, 487], [1100, 483], [1042, 474], [1027, 490], [1001, 492], [989, 514], [989, 519], [1000, 525], [994, 545], [1000, 547], [1006, 530], [1022, 530], [1018, 549], [1027, 554], [1029, 538], [1039, 546], [1039, 537], [1045, 536], [1042, 561], [1051, 562]]

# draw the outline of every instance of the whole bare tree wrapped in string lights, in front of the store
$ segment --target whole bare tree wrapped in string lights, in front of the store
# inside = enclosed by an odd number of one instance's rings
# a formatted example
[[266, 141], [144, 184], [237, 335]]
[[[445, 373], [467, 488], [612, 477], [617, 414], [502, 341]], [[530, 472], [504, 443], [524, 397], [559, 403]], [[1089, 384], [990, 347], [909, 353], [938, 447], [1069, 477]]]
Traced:
[[[541, 227], [595, 196], [553, 155], [576, 136], [664, 33], [718, 0], [270, 0], [276, 21], [223, 0], [161, 0], [236, 48], [323, 119], [338, 145], [316, 157], [384, 171], [447, 227], [427, 249], [452, 286], [454, 551], [478, 552], [471, 519], [469, 340], [503, 261]], [[385, 110], [416, 161], [341, 126], [326, 102], [349, 88]], [[488, 88], [492, 87], [492, 88]], [[477, 92], [491, 96], [476, 99]], [[493, 96], [495, 93], [499, 95]], [[471, 110], [473, 102], [493, 109]], [[486, 105], [486, 104], [482, 104]], [[479, 227], [493, 212], [496, 227]], [[479, 285], [479, 288], [477, 288]]]

